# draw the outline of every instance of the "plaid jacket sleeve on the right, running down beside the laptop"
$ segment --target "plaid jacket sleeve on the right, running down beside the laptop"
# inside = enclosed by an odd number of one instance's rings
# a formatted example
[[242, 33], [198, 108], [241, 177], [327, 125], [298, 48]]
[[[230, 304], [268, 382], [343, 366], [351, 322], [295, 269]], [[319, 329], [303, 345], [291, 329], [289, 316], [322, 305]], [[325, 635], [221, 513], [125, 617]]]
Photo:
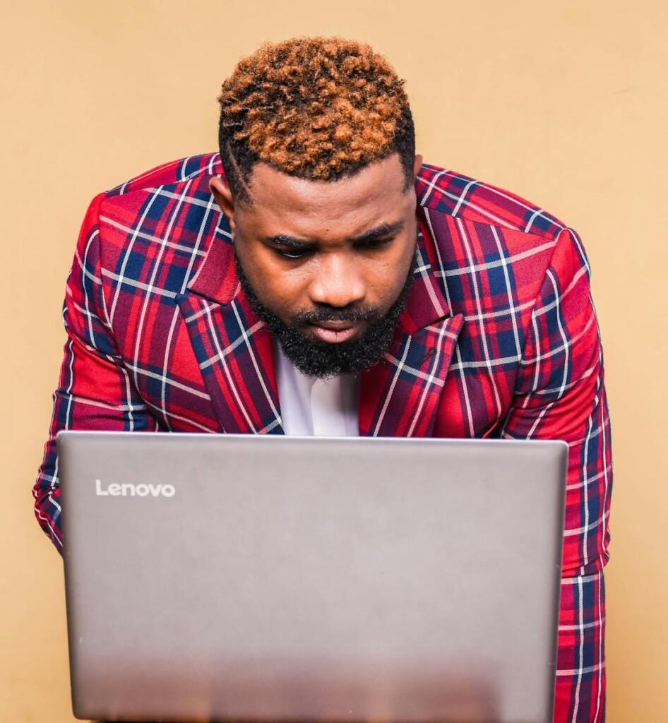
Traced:
[[590, 268], [564, 229], [531, 316], [502, 436], [569, 446], [554, 721], [604, 721], [610, 423]]

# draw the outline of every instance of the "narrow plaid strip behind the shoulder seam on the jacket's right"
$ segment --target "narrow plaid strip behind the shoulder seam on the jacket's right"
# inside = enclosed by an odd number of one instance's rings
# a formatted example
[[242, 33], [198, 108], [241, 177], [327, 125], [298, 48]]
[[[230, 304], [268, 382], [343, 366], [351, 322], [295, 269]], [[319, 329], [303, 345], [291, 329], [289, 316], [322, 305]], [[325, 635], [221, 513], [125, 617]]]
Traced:
[[463, 221], [553, 239], [566, 228], [554, 215], [518, 194], [428, 163], [419, 171], [416, 192], [424, 208]]

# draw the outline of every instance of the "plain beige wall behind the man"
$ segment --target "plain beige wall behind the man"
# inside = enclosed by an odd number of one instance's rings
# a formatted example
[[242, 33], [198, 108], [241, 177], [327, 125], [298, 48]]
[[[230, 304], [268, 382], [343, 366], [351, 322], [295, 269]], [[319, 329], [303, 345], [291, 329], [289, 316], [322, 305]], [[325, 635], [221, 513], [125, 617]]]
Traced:
[[615, 448], [608, 720], [668, 720], [667, 8], [36, 0], [3, 12], [1, 720], [72, 720], [61, 562], [30, 487], [87, 202], [215, 149], [215, 95], [234, 61], [261, 40], [314, 33], [387, 54], [408, 80], [427, 161], [512, 189], [583, 236]]

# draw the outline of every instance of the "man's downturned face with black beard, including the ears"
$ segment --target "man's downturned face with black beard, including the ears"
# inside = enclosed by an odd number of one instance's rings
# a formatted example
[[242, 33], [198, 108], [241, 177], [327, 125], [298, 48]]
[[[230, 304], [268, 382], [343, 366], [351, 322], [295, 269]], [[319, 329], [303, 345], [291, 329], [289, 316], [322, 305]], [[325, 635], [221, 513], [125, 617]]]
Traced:
[[288, 359], [320, 377], [378, 361], [406, 303], [416, 244], [416, 196], [398, 154], [338, 181], [258, 163], [250, 205], [234, 205], [220, 179], [211, 188], [231, 223], [241, 284]]

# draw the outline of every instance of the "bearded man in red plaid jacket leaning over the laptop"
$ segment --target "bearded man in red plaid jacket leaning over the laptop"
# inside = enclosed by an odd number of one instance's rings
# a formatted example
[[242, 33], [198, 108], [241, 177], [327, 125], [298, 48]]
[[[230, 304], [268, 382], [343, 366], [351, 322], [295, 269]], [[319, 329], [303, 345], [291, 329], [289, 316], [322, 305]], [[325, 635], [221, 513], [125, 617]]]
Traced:
[[43, 529], [60, 549], [59, 429], [566, 440], [554, 719], [602, 721], [612, 470], [578, 235], [423, 164], [403, 82], [368, 46], [263, 46], [219, 100], [220, 155], [87, 211]]

